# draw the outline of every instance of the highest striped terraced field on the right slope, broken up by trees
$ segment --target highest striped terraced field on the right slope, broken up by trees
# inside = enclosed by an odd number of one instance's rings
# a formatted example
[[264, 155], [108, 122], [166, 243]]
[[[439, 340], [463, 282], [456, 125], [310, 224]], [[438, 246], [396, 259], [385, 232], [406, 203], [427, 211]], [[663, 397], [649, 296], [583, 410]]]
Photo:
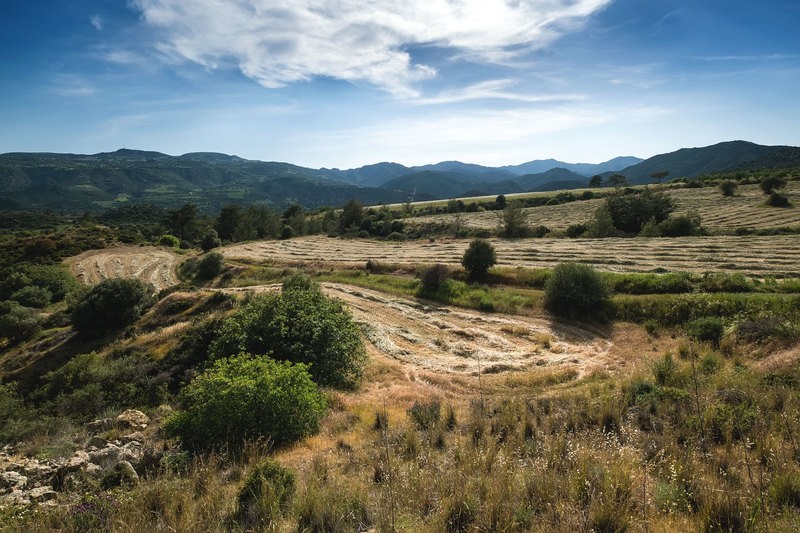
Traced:
[[[790, 182], [786, 188], [794, 202], [800, 202], [800, 182]], [[674, 189], [668, 194], [675, 200], [676, 214], [699, 213], [703, 226], [709, 230], [750, 228], [777, 228], [800, 226], [800, 208], [788, 209], [764, 206], [765, 196], [758, 185], [739, 187], [733, 197], [723, 197], [716, 189]], [[551, 230], [564, 230], [571, 224], [585, 224], [603, 200], [570, 202], [563, 205], [530, 207], [528, 221], [532, 226], [547, 226]], [[411, 226], [428, 224], [460, 224], [466, 228], [495, 229], [501, 223], [500, 213], [462, 213], [431, 215], [409, 219]]]

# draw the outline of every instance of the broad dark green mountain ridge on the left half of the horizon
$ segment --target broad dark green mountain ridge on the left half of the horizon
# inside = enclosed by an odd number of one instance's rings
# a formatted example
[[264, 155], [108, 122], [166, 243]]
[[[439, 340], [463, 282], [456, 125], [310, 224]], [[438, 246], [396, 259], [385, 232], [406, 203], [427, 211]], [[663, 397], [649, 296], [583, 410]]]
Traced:
[[289, 163], [249, 161], [225, 154], [169, 156], [118, 150], [94, 155], [0, 155], [0, 207], [104, 210], [133, 203], [175, 207], [187, 202], [210, 211], [231, 203], [278, 209], [401, 202], [400, 193], [334, 181]]

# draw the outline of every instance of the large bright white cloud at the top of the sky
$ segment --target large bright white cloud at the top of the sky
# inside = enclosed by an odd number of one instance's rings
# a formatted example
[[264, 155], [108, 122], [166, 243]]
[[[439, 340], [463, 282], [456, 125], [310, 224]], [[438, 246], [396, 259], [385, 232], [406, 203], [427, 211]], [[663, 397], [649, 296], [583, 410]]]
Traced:
[[579, 27], [612, 0], [132, 0], [160, 49], [265, 87], [315, 76], [413, 95], [436, 70], [409, 47], [505, 63]]

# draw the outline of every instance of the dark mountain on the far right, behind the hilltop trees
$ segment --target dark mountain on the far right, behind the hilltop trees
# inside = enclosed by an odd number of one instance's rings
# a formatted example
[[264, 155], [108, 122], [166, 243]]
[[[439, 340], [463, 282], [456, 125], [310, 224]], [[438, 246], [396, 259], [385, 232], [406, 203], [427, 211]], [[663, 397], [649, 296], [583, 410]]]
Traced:
[[[796, 149], [795, 149], [796, 150]], [[620, 173], [630, 184], [652, 183], [656, 172], [669, 172], [666, 179], [694, 178], [701, 174], [732, 170], [750, 165], [763, 168], [770, 158], [787, 160], [779, 154], [794, 154], [787, 146], [762, 146], [746, 141], [729, 141], [702, 148], [682, 148], [660, 154], [630, 166]], [[791, 159], [791, 157], [789, 157]]]

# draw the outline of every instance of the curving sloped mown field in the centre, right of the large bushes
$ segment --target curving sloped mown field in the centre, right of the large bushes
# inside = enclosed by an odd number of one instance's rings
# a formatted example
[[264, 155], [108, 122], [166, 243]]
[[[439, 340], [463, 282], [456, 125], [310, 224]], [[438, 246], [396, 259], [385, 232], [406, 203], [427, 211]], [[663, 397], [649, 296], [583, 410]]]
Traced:
[[323, 287], [347, 304], [382, 355], [426, 370], [477, 375], [566, 365], [583, 375], [609, 364], [611, 343], [577, 326], [426, 305], [347, 285]]

